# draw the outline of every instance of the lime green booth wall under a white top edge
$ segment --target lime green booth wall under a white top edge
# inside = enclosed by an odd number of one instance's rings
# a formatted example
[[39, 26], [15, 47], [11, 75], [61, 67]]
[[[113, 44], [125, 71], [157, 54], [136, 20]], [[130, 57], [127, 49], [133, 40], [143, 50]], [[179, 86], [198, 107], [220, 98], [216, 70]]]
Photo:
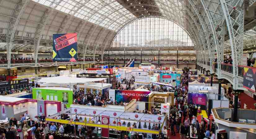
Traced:
[[40, 87], [33, 88], [33, 99], [61, 101], [70, 107], [73, 103], [73, 90], [65, 87]]

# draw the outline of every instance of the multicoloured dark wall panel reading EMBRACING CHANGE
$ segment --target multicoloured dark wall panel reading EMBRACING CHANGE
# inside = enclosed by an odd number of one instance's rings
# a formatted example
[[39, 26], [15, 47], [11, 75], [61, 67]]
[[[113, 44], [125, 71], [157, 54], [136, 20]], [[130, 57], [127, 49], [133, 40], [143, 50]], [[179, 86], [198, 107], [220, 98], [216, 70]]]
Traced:
[[130, 102], [132, 99], [137, 101], [148, 102], [150, 91], [133, 91], [133, 90], [115, 90], [115, 100], [117, 103]]

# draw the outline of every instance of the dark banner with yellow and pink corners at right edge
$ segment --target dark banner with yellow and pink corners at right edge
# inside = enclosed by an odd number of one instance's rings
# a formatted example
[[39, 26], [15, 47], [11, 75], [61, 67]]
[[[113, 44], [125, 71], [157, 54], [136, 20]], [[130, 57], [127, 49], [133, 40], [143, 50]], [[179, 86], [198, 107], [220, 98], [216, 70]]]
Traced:
[[256, 85], [256, 68], [253, 67], [244, 67], [244, 82], [243, 87], [255, 92]]

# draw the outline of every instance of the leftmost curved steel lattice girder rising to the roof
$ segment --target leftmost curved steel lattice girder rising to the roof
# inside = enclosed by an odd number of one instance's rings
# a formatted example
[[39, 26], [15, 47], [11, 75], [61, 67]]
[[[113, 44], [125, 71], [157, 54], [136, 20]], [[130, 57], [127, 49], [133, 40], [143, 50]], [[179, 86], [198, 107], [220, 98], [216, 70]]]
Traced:
[[7, 42], [7, 67], [11, 68], [11, 49], [12, 49], [12, 43], [13, 38], [18, 26], [18, 23], [20, 21], [20, 17], [23, 15], [24, 9], [27, 6], [29, 0], [20, 0], [18, 4], [16, 5], [16, 8], [13, 12], [14, 18], [11, 18], [10, 23], [8, 25], [7, 34], [6, 34], [6, 42]]

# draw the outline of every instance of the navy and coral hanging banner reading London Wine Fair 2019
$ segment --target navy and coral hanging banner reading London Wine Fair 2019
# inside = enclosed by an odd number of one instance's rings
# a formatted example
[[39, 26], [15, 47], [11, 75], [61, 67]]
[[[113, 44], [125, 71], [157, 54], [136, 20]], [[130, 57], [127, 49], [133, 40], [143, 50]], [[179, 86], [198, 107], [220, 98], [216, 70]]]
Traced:
[[53, 34], [53, 61], [77, 60], [77, 33]]

